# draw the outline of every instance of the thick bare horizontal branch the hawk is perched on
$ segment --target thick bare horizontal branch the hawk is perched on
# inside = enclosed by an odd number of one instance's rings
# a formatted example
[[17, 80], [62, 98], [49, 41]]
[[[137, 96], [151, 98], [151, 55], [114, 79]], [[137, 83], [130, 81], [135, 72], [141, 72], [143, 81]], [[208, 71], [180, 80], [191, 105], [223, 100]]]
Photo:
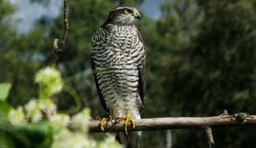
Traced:
[[[209, 146], [214, 145], [212, 128], [220, 128], [224, 126], [249, 126], [256, 125], [256, 115], [247, 113], [239, 113], [234, 115], [222, 114], [220, 116], [209, 117], [170, 117], [170, 118], [144, 118], [135, 121], [135, 128], [131, 128], [129, 123], [128, 131], [156, 131], [167, 129], [182, 129], [182, 128], [199, 128], [205, 131]], [[115, 122], [115, 120], [113, 120]], [[124, 131], [124, 121], [117, 123], [106, 122], [104, 132]], [[90, 122], [90, 132], [99, 133], [100, 126], [98, 120]]]

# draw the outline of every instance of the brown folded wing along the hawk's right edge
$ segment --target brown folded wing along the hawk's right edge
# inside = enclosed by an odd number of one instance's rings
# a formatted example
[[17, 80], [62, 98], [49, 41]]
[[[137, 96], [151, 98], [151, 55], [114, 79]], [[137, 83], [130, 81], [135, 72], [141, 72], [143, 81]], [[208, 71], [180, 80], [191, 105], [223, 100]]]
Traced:
[[[145, 44], [144, 44], [144, 38], [141, 34], [141, 31], [139, 28], [137, 28], [137, 36], [139, 37], [139, 40], [143, 43], [143, 47], [141, 50], [145, 50]], [[144, 55], [145, 56], [145, 55]], [[138, 85], [138, 90], [139, 90], [139, 96], [141, 98], [141, 106], [139, 107], [139, 112], [143, 111], [144, 108], [144, 99], [145, 99], [145, 91], [146, 91], [146, 59], [143, 58], [143, 60], [140, 63], [139, 67], [139, 85]]]

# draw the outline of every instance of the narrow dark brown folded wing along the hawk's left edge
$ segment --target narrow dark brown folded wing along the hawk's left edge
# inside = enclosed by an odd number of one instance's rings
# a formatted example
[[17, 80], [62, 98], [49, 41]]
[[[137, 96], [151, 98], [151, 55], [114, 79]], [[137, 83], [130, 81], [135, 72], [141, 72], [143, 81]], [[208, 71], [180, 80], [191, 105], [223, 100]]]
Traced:
[[97, 88], [97, 91], [98, 91], [98, 96], [100, 97], [100, 102], [103, 106], [103, 108], [106, 110], [106, 112], [109, 113], [109, 108], [106, 106], [106, 102], [105, 102], [105, 99], [100, 91], [100, 86], [98, 85], [98, 79], [97, 79], [97, 75], [96, 75], [96, 67], [94, 65], [94, 61], [92, 60], [92, 57], [91, 57], [91, 65], [92, 65], [92, 73], [94, 75], [94, 81], [95, 81], [95, 84], [96, 84], [96, 88]]

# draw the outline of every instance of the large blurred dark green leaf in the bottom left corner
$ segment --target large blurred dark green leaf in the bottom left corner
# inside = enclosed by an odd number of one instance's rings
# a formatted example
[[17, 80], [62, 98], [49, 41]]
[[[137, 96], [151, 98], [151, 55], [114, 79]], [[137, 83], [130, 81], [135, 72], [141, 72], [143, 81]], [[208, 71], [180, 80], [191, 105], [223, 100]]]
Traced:
[[0, 148], [13, 147], [13, 145], [19, 148], [51, 147], [55, 131], [46, 121], [15, 126], [0, 114]]

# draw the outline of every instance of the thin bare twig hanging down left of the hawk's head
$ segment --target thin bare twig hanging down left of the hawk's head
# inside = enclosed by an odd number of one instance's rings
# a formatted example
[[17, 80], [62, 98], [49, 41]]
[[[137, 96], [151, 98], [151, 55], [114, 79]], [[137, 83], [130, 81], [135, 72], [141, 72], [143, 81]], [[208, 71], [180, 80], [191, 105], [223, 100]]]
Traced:
[[63, 13], [63, 18], [64, 18], [64, 32], [63, 32], [63, 36], [61, 38], [61, 45], [60, 47], [58, 47], [58, 41], [59, 39], [55, 39], [53, 42], [53, 48], [54, 48], [54, 59], [53, 59], [53, 63], [52, 65], [56, 65], [58, 59], [59, 59], [59, 54], [61, 54], [64, 45], [65, 45], [65, 40], [67, 38], [67, 32], [69, 30], [69, 24], [67, 22], [67, 0], [64, 0], [64, 13]]

